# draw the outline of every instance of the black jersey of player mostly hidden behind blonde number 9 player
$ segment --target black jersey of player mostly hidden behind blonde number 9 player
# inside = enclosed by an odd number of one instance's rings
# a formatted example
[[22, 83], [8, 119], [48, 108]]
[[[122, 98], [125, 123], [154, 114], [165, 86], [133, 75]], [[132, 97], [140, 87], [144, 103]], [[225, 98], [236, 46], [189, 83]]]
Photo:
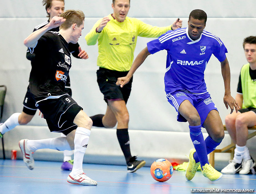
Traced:
[[[36, 31], [36, 30], [41, 29], [42, 27], [44, 27], [44, 26], [47, 25], [48, 23], [49, 23], [49, 20], [43, 22], [42, 24], [37, 25], [37, 26], [34, 28], [33, 32]], [[56, 31], [56, 32], [59, 32], [59, 26], [56, 27], [56, 28], [53, 28], [53, 29], [51, 29], [51, 30], [49, 30], [49, 31]], [[78, 43], [73, 44], [73, 43], [70, 42], [70, 43], [68, 44], [69, 52], [71, 52], [72, 55], [73, 55], [74, 57], [76, 57], [76, 58], [80, 58], [80, 57], [78, 57], [78, 54], [79, 54], [78, 47], [79, 47], [79, 44], [78, 44]], [[35, 54], [34, 54], [34, 53], [31, 54], [30, 51], [29, 51], [29, 48], [27, 48], [27, 55], [26, 55], [26, 57], [27, 57], [28, 60], [32, 61], [32, 60], [35, 58]]]

